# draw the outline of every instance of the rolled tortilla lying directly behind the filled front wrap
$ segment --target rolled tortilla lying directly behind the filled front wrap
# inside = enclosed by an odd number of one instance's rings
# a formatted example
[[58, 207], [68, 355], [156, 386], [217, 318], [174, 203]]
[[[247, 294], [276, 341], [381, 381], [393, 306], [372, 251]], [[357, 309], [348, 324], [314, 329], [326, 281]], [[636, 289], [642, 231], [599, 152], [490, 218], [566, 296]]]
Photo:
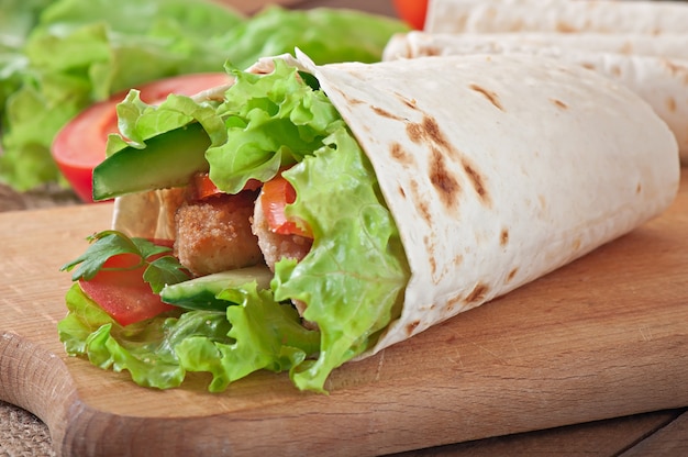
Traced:
[[[396, 35], [390, 40], [385, 49], [384, 58], [417, 58], [473, 53], [525, 53], [580, 65], [618, 80], [647, 101], [676, 135], [680, 159], [688, 164], [688, 59], [622, 54], [619, 52], [623, 48], [621, 41], [609, 41], [609, 52], [592, 51], [591, 42], [576, 40], [585, 35], [561, 36], [569, 38], [552, 40], [552, 43], [557, 44], [544, 45], [535, 43], [545, 43], [546, 38], [529, 41], [528, 36], [520, 37], [518, 34], [508, 34], [500, 38], [498, 34], [464, 35], [412, 32]], [[645, 40], [645, 42], [652, 41]], [[590, 48], [579, 48], [577, 47], [579, 43], [590, 45]], [[641, 43], [642, 41], [637, 41], [634, 43], [634, 47], [642, 47]], [[599, 45], [598, 49], [603, 49], [603, 46]], [[688, 52], [688, 46], [685, 47], [685, 51]]]

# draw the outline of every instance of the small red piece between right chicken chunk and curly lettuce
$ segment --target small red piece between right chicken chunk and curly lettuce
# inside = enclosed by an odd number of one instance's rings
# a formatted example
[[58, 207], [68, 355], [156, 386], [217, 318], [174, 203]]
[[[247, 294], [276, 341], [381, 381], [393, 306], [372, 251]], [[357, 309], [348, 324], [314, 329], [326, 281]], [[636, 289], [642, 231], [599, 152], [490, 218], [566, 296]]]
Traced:
[[297, 224], [295, 221], [288, 220], [285, 214], [285, 207], [293, 203], [296, 199], [296, 190], [281, 175], [265, 182], [260, 191], [260, 204], [263, 204], [267, 224], [270, 231], [281, 235], [299, 235], [312, 238], [313, 234], [310, 230], [303, 227], [306, 224]]

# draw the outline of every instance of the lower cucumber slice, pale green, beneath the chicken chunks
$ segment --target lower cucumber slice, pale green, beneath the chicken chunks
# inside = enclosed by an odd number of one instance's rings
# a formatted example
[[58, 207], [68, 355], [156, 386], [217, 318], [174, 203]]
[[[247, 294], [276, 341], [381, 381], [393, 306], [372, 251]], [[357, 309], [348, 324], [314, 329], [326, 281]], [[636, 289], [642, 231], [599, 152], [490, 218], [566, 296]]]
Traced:
[[[218, 293], [254, 280], [258, 289], [268, 289], [271, 279], [273, 272], [266, 266], [240, 268], [165, 286], [160, 291], [160, 299], [165, 303], [187, 310], [224, 311], [232, 302], [217, 299]], [[237, 297], [237, 301], [238, 299], [241, 298]]]

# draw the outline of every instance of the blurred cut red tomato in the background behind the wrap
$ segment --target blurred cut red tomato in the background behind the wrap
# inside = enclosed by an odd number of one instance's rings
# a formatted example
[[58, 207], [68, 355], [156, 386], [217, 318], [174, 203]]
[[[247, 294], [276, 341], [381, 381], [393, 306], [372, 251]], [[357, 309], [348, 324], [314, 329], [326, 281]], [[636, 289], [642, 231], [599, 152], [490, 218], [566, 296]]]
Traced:
[[[147, 82], [136, 89], [146, 103], [158, 103], [170, 93], [192, 96], [229, 81], [230, 77], [224, 73], [191, 74]], [[52, 154], [57, 167], [85, 202], [93, 201], [93, 168], [106, 158], [108, 135], [118, 132], [115, 108], [127, 92], [116, 93], [87, 108], [68, 122], [53, 141]]]

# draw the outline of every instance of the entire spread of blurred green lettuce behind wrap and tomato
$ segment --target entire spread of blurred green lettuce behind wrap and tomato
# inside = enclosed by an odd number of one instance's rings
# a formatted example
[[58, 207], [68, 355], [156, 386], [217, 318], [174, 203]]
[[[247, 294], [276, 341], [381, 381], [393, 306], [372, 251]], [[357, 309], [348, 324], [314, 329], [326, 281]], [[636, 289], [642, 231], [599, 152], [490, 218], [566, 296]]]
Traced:
[[408, 30], [335, 9], [269, 7], [247, 19], [203, 0], [9, 0], [1, 18], [0, 182], [19, 191], [66, 186], [49, 154], [57, 131], [134, 85], [222, 71], [228, 59], [243, 68], [295, 47], [318, 64], [375, 62]]

